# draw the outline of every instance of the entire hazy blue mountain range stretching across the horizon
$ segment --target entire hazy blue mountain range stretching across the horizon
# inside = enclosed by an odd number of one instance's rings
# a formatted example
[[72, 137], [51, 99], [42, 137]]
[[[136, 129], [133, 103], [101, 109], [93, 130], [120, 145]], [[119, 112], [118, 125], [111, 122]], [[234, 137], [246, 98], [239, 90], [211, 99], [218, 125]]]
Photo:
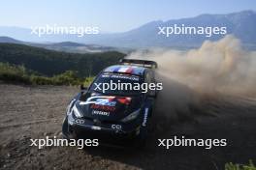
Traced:
[[[0, 36], [9, 36], [25, 42], [80, 42], [114, 47], [198, 47], [206, 40], [216, 41], [225, 35], [158, 35], [158, 27], [172, 27], [175, 24], [193, 27], [227, 27], [227, 34], [233, 34], [246, 45], [256, 44], [256, 13], [243, 11], [233, 14], [201, 14], [195, 17], [152, 21], [139, 28], [124, 33], [86, 35], [31, 35], [30, 29], [0, 27]], [[86, 48], [86, 47], [85, 47]], [[58, 48], [57, 48], [58, 49]]]

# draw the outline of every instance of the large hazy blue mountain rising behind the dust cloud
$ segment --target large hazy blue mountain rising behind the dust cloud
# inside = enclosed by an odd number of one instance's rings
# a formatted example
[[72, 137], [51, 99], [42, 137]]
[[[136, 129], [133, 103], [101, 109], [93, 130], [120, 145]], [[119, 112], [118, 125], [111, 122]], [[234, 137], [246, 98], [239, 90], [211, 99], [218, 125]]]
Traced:
[[227, 27], [227, 34], [233, 34], [248, 44], [256, 43], [256, 13], [244, 11], [234, 14], [201, 14], [191, 18], [153, 21], [129, 32], [103, 35], [89, 40], [93, 43], [110, 44], [112, 46], [148, 47], [148, 46], [199, 46], [206, 40], [216, 41], [225, 35], [158, 35], [158, 27], [174, 27], [174, 25], [193, 27]]

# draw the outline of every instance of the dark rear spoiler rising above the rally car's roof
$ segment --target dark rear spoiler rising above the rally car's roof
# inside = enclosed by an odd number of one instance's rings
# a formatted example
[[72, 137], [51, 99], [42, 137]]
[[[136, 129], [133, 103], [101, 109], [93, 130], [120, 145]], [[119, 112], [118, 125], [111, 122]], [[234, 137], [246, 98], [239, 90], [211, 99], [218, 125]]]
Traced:
[[123, 65], [138, 65], [144, 68], [156, 69], [157, 63], [149, 60], [137, 60], [137, 59], [121, 59], [119, 61]]

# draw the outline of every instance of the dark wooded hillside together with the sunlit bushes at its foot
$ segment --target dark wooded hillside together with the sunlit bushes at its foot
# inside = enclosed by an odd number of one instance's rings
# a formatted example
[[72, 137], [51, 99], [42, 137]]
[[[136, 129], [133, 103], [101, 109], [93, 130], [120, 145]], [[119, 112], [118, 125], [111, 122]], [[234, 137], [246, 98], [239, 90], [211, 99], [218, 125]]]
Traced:
[[0, 43], [0, 81], [87, 87], [99, 71], [118, 63], [124, 56], [117, 51], [78, 54]]

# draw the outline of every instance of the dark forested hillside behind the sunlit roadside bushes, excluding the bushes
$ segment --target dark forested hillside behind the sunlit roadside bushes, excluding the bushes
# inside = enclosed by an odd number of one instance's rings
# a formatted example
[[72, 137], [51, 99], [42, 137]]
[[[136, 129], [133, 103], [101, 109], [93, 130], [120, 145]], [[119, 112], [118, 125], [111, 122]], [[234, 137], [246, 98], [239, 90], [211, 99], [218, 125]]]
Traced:
[[0, 43], [0, 62], [22, 65], [47, 76], [78, 71], [80, 77], [95, 75], [124, 57], [116, 51], [77, 54], [57, 52], [24, 44]]

